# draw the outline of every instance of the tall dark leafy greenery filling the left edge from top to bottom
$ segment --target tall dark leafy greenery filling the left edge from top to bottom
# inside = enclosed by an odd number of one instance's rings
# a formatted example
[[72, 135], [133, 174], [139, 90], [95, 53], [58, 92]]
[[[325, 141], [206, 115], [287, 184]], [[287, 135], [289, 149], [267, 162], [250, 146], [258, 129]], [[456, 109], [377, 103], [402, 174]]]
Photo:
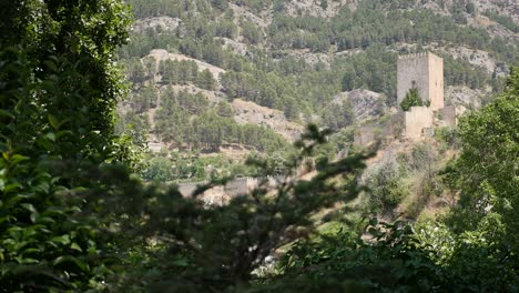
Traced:
[[8, 1], [0, 14], [0, 291], [93, 290], [111, 241], [82, 191], [130, 152], [113, 132], [128, 9]]

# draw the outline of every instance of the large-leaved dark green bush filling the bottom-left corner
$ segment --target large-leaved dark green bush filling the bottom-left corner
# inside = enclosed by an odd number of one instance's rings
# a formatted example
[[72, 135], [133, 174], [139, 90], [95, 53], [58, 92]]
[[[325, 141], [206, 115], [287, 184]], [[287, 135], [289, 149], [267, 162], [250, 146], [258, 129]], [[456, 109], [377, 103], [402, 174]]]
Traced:
[[82, 291], [101, 281], [98, 229], [81, 214], [79, 190], [12, 150], [2, 152], [0, 173], [0, 291]]

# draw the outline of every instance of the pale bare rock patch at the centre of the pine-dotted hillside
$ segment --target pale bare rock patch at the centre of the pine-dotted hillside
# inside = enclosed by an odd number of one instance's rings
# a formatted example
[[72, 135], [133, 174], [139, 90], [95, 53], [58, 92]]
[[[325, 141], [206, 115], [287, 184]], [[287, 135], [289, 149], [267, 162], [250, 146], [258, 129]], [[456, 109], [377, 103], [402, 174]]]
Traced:
[[235, 99], [231, 105], [234, 109], [234, 120], [240, 124], [264, 125], [283, 135], [288, 141], [295, 141], [303, 133], [303, 127], [291, 122], [279, 110], [258, 105], [254, 102]]

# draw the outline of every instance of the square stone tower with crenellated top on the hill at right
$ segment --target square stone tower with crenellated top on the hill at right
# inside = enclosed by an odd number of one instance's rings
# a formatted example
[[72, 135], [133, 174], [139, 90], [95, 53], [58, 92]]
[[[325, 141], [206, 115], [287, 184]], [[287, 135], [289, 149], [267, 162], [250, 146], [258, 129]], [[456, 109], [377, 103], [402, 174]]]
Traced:
[[430, 109], [444, 108], [444, 59], [427, 52], [400, 55], [397, 72], [397, 101], [404, 100], [410, 89], [430, 101]]

